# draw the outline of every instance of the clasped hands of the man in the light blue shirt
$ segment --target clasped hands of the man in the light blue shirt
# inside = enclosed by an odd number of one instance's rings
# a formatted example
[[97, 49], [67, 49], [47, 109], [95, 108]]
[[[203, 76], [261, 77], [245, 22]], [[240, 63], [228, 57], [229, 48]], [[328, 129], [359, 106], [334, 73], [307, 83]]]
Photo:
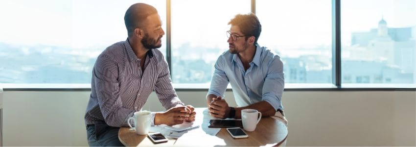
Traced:
[[227, 101], [221, 97], [212, 98], [208, 110], [211, 116], [220, 119], [228, 118], [230, 115], [230, 107], [228, 106]]

